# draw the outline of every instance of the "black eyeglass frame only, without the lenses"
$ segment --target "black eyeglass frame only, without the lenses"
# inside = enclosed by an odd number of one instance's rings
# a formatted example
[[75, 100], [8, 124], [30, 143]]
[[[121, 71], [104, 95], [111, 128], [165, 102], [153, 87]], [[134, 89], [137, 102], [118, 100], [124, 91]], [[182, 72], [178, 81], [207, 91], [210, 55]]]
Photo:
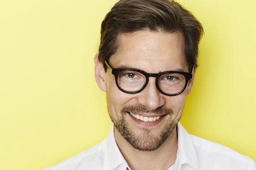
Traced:
[[[192, 72], [193, 72], [193, 68], [194, 68], [194, 66], [192, 66], [191, 73], [183, 72], [183, 71], [165, 71], [165, 72], [161, 72], [161, 73], [155, 74], [155, 73], [146, 73], [145, 71], [137, 70], [137, 69], [134, 69], [134, 68], [113, 68], [106, 60], [105, 60], [105, 64], [108, 66], [108, 69], [111, 71], [111, 73], [115, 76], [116, 86], [117, 86], [117, 88], [119, 88], [120, 91], [122, 91], [124, 93], [128, 93], [128, 94], [140, 93], [147, 86], [148, 81], [149, 81], [148, 77], [156, 77], [157, 89], [160, 91], [160, 93], [162, 93], [162, 94], [164, 94], [166, 96], [177, 96], [177, 95], [181, 94], [186, 89], [189, 80], [192, 79], [192, 75], [193, 75]], [[138, 90], [138, 91], [125, 91], [124, 89], [120, 88], [120, 86], [118, 85], [118, 76], [119, 76], [119, 74], [122, 71], [127, 71], [127, 70], [137, 71], [137, 72], [139, 72], [139, 73], [141, 73], [141, 74], [143, 74], [145, 76], [146, 82], [145, 82], [145, 84], [143, 85], [143, 87], [140, 90]], [[180, 92], [178, 92], [176, 94], [167, 94], [167, 93], [165, 93], [165, 92], [163, 92], [161, 90], [161, 88], [158, 85], [158, 79], [161, 77], [161, 75], [167, 74], [167, 73], [182, 74], [185, 77], [186, 82], [185, 82], [185, 85], [184, 85], [183, 89]]]

